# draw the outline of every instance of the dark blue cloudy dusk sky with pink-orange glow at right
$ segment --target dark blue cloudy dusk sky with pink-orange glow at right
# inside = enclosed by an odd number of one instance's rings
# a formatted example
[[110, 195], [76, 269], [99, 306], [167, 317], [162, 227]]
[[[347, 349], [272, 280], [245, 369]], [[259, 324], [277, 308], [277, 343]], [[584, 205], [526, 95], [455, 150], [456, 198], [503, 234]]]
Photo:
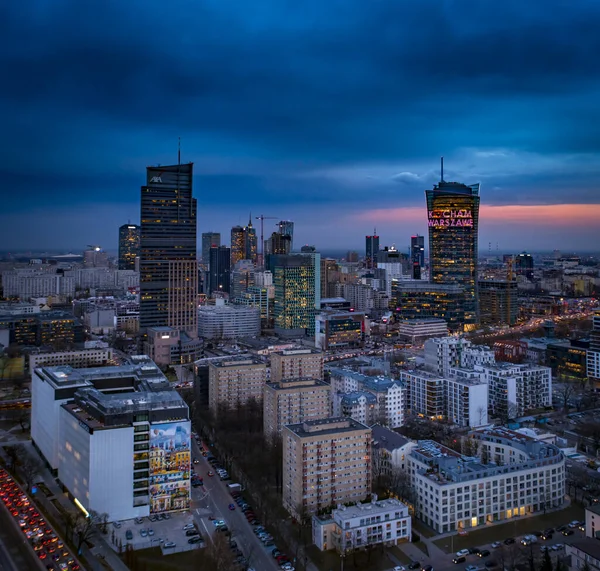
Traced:
[[0, 249], [116, 248], [181, 137], [224, 243], [252, 212], [404, 249], [443, 155], [482, 250], [597, 250], [599, 28], [598, 0], [3, 2]]

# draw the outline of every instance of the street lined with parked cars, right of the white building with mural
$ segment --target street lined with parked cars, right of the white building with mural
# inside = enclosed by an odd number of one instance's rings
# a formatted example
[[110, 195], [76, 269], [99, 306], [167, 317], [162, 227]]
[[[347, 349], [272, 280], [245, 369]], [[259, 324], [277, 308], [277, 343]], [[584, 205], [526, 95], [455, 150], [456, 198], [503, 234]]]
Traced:
[[260, 571], [280, 571], [280, 567], [271, 556], [270, 551], [267, 551], [256, 537], [253, 527], [237, 505], [235, 510], [229, 510], [228, 506], [233, 500], [227, 485], [216, 474], [212, 478], [207, 476], [208, 471], [214, 471], [214, 469], [202, 456], [201, 450], [194, 440], [192, 441], [192, 452], [193, 456], [200, 460], [199, 464], [194, 465], [195, 471], [204, 479], [204, 486], [192, 488], [192, 511], [199, 529], [202, 530], [203, 535], [206, 534], [207, 541], [212, 540], [209, 538], [214, 533], [214, 526], [208, 516], [225, 520], [227, 527], [232, 532], [233, 539], [251, 567], [260, 569]]

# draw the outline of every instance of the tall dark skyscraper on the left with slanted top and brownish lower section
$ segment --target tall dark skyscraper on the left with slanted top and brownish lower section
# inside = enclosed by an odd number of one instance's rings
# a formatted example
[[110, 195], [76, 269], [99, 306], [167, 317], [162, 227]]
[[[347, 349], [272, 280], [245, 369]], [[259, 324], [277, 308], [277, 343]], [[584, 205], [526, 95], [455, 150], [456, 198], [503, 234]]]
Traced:
[[198, 337], [193, 164], [148, 167], [141, 190], [140, 329], [167, 326]]

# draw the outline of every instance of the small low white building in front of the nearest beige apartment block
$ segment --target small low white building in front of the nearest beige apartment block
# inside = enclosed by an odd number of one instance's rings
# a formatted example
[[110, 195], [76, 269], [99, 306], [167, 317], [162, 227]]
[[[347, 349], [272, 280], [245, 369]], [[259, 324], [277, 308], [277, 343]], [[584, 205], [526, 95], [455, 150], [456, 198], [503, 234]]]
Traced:
[[313, 543], [321, 550], [348, 553], [375, 545], [398, 545], [412, 538], [408, 507], [396, 499], [339, 506], [329, 516], [313, 516]]

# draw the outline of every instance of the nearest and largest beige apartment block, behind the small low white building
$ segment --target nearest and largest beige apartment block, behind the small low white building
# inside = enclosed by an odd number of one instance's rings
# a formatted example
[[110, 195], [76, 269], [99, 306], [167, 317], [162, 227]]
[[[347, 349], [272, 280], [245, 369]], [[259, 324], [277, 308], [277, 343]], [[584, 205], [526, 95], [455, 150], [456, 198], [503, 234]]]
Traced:
[[295, 518], [364, 500], [371, 491], [371, 429], [351, 418], [284, 427], [283, 506]]

